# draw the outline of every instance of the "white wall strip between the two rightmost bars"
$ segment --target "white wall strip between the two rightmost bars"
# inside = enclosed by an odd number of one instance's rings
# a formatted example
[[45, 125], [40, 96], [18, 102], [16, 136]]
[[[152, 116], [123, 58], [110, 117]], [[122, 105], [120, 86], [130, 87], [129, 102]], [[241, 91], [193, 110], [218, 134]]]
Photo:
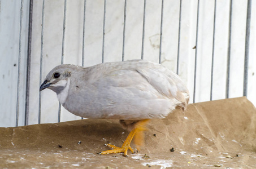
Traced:
[[247, 3], [233, 1], [229, 97], [243, 94]]

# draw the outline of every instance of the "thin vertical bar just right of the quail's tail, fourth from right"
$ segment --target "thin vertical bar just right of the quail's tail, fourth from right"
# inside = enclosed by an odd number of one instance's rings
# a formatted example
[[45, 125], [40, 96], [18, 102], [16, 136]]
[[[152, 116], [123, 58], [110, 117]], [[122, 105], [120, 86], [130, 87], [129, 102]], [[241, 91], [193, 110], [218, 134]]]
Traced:
[[194, 57], [194, 92], [193, 92], [193, 103], [195, 103], [195, 99], [196, 99], [198, 23], [199, 23], [199, 0], [197, 2], [197, 33], [196, 33], [196, 54], [195, 54], [195, 57]]

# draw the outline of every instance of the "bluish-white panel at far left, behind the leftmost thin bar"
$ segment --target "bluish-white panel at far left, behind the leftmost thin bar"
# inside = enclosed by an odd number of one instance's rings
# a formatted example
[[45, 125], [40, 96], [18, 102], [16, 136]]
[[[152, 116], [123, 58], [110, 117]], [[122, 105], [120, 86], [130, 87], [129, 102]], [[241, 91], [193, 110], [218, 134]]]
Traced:
[[[15, 126], [21, 1], [0, 1], [0, 127]], [[19, 125], [25, 119], [29, 1], [23, 3]]]

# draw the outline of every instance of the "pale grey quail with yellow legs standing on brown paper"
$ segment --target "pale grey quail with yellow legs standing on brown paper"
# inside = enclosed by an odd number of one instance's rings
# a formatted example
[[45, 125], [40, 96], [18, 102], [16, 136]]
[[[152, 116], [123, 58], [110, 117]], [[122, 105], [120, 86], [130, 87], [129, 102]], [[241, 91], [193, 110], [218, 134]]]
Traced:
[[[56, 66], [47, 74], [40, 91], [56, 92], [69, 112], [84, 118], [119, 119], [130, 131], [121, 147], [99, 154], [124, 153], [130, 144], [139, 149], [150, 119], [161, 119], [176, 107], [185, 110], [189, 92], [180, 77], [163, 65], [146, 60], [103, 63], [90, 67], [71, 64]], [[134, 137], [134, 139], [133, 139]]]

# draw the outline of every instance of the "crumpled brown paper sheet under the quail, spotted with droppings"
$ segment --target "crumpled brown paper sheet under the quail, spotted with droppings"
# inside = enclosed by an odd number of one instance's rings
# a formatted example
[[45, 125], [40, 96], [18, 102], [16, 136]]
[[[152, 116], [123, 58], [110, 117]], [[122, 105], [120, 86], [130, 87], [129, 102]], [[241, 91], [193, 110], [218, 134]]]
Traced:
[[127, 137], [116, 120], [0, 128], [0, 168], [256, 168], [256, 109], [246, 97], [190, 104], [147, 128], [145, 146], [128, 157], [97, 154]]

